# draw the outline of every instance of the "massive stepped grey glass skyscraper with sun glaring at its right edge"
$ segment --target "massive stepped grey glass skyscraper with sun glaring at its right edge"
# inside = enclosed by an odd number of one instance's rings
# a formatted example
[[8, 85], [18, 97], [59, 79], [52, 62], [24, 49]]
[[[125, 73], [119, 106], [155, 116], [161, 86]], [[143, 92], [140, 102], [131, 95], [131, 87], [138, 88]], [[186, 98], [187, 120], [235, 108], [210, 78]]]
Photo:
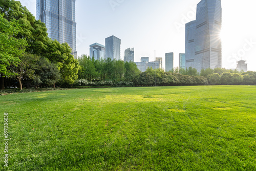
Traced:
[[193, 67], [199, 72], [221, 68], [221, 26], [221, 0], [202, 0], [197, 5], [196, 20], [186, 24], [186, 68]]

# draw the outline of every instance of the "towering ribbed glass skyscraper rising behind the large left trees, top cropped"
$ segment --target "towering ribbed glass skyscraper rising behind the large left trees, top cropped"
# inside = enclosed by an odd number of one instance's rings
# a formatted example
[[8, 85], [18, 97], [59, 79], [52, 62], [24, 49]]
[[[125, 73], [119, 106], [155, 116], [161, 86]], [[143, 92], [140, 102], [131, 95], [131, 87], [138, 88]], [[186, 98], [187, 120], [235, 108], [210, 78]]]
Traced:
[[76, 51], [75, 0], [36, 0], [36, 19], [46, 24], [48, 37], [67, 42]]

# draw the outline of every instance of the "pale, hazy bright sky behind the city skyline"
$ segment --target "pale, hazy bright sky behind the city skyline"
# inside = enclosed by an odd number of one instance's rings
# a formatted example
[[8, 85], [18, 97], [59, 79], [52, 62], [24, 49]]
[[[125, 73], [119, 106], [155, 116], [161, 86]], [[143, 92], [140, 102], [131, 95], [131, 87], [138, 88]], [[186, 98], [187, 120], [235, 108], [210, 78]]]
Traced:
[[[35, 0], [22, 0], [35, 15]], [[111, 5], [111, 2], [113, 3]], [[90, 54], [89, 46], [105, 44], [111, 35], [121, 39], [124, 50], [135, 48], [135, 61], [142, 56], [154, 60], [174, 52], [174, 67], [179, 53], [185, 52], [184, 23], [196, 19], [200, 0], [76, 0], [78, 55]], [[236, 61], [247, 60], [256, 71], [255, 0], [222, 0], [222, 67], [236, 68]], [[184, 17], [186, 16], [186, 17]], [[164, 65], [163, 65], [164, 67]]]

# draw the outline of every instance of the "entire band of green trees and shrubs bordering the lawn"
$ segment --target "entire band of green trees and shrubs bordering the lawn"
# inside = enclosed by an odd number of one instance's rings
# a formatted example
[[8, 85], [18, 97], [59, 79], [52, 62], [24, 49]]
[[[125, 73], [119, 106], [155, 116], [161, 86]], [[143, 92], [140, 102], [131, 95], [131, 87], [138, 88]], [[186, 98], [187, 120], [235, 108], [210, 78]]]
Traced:
[[[72, 86], [252, 85], [256, 72], [227, 69], [152, 68], [140, 72], [134, 62], [111, 58], [74, 59], [67, 43], [48, 38], [47, 28], [20, 2], [0, 0], [0, 89]], [[78, 79], [78, 80], [77, 80]], [[77, 80], [77, 81], [76, 81]], [[86, 81], [84, 81], [86, 80]], [[79, 83], [80, 82], [80, 83]], [[83, 83], [81, 83], [83, 82]], [[132, 83], [131, 83], [132, 82]]]

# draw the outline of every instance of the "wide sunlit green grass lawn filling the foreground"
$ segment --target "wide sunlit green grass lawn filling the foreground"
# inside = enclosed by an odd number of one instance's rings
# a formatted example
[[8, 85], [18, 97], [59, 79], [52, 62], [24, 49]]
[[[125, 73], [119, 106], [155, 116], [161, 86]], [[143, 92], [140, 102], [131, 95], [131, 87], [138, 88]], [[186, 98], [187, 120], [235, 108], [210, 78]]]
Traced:
[[256, 170], [255, 101], [255, 86], [0, 96], [0, 170]]

